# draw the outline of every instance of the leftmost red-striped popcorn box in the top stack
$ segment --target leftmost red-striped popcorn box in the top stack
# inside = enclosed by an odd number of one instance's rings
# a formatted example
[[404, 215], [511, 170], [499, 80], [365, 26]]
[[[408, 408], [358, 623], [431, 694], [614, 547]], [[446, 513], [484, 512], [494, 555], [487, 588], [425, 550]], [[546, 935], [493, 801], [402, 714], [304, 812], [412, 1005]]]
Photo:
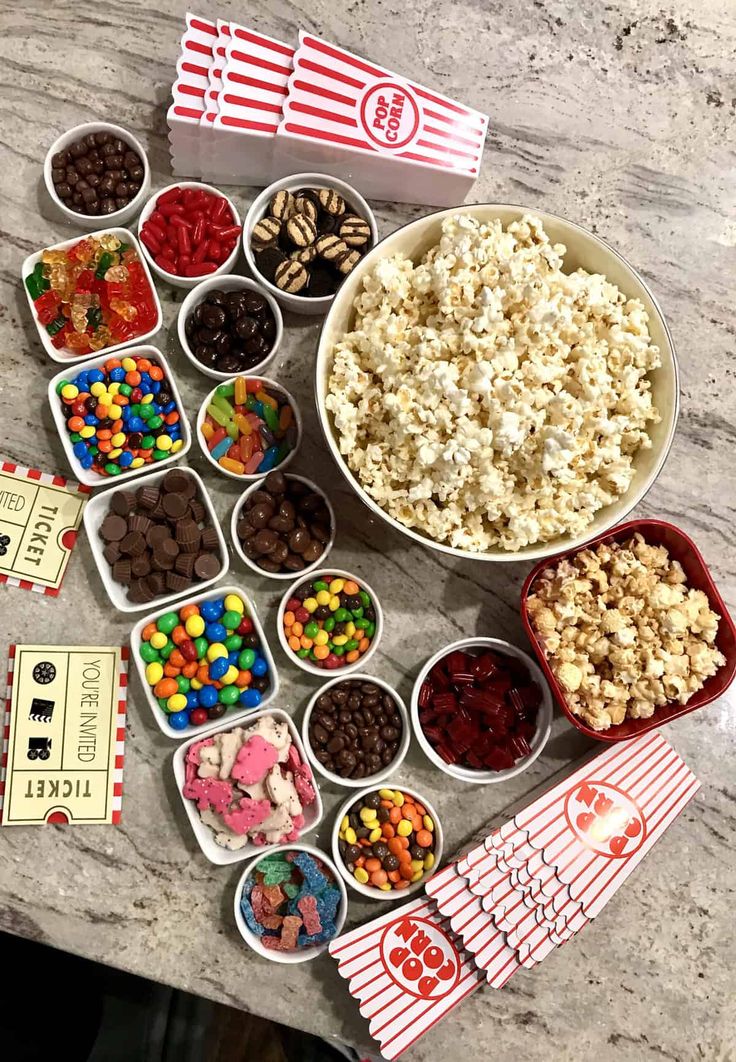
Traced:
[[176, 62], [176, 80], [167, 112], [169, 153], [174, 176], [201, 176], [201, 130], [205, 92], [218, 37], [215, 22], [187, 13], [187, 22]]

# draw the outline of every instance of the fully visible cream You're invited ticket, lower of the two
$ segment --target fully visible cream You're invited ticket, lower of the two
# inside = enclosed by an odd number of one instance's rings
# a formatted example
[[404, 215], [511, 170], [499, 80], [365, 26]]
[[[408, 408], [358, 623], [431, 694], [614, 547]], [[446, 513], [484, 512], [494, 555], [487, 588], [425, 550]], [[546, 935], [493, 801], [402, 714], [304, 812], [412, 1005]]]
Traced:
[[0, 822], [118, 823], [126, 648], [12, 646]]

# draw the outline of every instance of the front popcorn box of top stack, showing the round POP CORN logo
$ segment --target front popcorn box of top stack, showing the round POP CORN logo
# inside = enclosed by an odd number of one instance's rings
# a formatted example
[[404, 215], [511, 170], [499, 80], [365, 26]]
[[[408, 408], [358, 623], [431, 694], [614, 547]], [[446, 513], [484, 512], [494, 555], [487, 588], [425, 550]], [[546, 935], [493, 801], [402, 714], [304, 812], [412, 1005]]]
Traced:
[[487, 116], [299, 33], [278, 127], [292, 169], [348, 177], [367, 196], [451, 206], [478, 176]]

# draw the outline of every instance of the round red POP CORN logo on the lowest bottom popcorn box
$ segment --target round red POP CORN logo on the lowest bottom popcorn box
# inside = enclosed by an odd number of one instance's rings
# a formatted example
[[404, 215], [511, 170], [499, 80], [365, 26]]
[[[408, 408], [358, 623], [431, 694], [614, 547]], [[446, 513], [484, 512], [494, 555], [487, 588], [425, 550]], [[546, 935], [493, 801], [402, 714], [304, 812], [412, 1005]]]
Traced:
[[458, 949], [428, 919], [408, 917], [388, 925], [380, 939], [380, 957], [394, 984], [417, 999], [439, 999], [460, 978]]

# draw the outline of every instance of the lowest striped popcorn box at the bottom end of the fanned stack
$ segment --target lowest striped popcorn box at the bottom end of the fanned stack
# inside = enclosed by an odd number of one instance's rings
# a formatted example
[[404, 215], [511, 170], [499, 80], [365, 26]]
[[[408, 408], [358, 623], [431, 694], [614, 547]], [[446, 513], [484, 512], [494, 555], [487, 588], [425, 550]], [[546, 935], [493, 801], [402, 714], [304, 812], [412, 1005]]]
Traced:
[[333, 940], [330, 954], [369, 1020], [384, 1059], [395, 1059], [484, 980], [448, 920], [421, 896]]

